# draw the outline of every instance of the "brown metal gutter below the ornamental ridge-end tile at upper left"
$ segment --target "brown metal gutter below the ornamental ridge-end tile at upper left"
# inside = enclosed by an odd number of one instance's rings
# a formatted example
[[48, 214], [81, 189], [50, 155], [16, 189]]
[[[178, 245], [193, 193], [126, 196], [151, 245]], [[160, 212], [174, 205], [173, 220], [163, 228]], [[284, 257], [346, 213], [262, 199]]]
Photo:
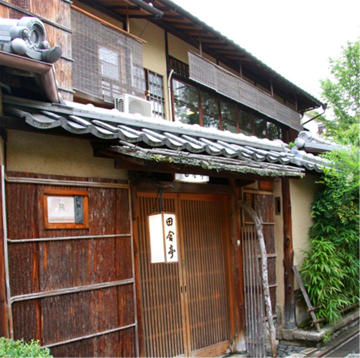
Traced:
[[49, 102], [60, 103], [55, 71], [51, 64], [0, 51], [0, 65], [33, 72], [44, 97]]

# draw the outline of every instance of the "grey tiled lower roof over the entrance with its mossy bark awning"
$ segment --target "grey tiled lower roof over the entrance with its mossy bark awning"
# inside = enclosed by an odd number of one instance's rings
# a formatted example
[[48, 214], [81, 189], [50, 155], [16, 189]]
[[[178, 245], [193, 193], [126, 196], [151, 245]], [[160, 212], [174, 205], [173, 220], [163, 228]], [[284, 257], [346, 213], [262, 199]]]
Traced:
[[321, 172], [324, 159], [270, 141], [213, 128], [169, 122], [74, 102], [51, 104], [4, 96], [6, 115], [22, 118], [39, 130], [62, 128], [72, 134], [102, 139], [118, 155], [171, 161], [217, 171], [263, 176], [302, 176]]

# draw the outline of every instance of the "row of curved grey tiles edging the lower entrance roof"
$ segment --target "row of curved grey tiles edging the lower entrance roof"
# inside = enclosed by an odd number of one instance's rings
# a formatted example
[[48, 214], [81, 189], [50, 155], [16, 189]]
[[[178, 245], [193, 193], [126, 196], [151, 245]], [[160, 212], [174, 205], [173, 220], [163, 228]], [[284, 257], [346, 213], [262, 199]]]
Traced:
[[[20, 107], [22, 108], [22, 107]], [[36, 113], [24, 111], [19, 108], [4, 107], [4, 112], [19, 118], [38, 129], [51, 129], [62, 127], [73, 134], [90, 133], [102, 139], [120, 139], [128, 143], [145, 143], [150, 147], [167, 147], [172, 150], [190, 153], [204, 153], [210, 156], [237, 158], [245, 163], [251, 163], [256, 167], [266, 168], [267, 165], [278, 163], [280, 165], [292, 165], [311, 171], [322, 172], [323, 167], [329, 166], [324, 159], [318, 158], [310, 153], [301, 150], [291, 151], [283, 148], [276, 149], [259, 148], [258, 139], [254, 146], [234, 144], [226, 142], [225, 139], [207, 139], [201, 136], [178, 134], [169, 131], [162, 132], [158, 129], [132, 127], [101, 119], [89, 119], [73, 114], [57, 114], [48, 110], [38, 110]]]

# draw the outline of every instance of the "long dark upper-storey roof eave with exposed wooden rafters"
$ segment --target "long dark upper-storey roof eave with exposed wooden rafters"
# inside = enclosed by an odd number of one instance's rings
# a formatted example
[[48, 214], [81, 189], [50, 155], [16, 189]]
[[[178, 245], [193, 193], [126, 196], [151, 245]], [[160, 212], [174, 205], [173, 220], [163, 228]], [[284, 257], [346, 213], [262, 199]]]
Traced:
[[202, 52], [215, 57], [236, 71], [241, 65], [244, 76], [265, 87], [272, 85], [275, 94], [293, 104], [297, 103], [299, 113], [323, 105], [318, 99], [281, 76], [251, 53], [171, 0], [151, 1], [152, 8], [163, 13], [160, 18], [159, 16], [156, 18], [149, 11], [148, 1], [119, 0], [114, 3], [111, 0], [83, 0], [82, 2], [98, 10], [102, 9], [106, 14], [121, 21], [125, 21], [126, 17], [146, 18], [190, 45], [197, 48], [201, 46]]

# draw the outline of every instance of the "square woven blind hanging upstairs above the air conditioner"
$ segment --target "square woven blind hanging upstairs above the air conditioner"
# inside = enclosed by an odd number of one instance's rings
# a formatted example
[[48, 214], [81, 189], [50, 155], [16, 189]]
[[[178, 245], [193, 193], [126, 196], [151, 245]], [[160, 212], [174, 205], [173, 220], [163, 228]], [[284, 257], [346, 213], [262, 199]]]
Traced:
[[105, 101], [121, 94], [143, 97], [143, 84], [134, 80], [142, 67], [141, 43], [71, 9], [73, 87]]

